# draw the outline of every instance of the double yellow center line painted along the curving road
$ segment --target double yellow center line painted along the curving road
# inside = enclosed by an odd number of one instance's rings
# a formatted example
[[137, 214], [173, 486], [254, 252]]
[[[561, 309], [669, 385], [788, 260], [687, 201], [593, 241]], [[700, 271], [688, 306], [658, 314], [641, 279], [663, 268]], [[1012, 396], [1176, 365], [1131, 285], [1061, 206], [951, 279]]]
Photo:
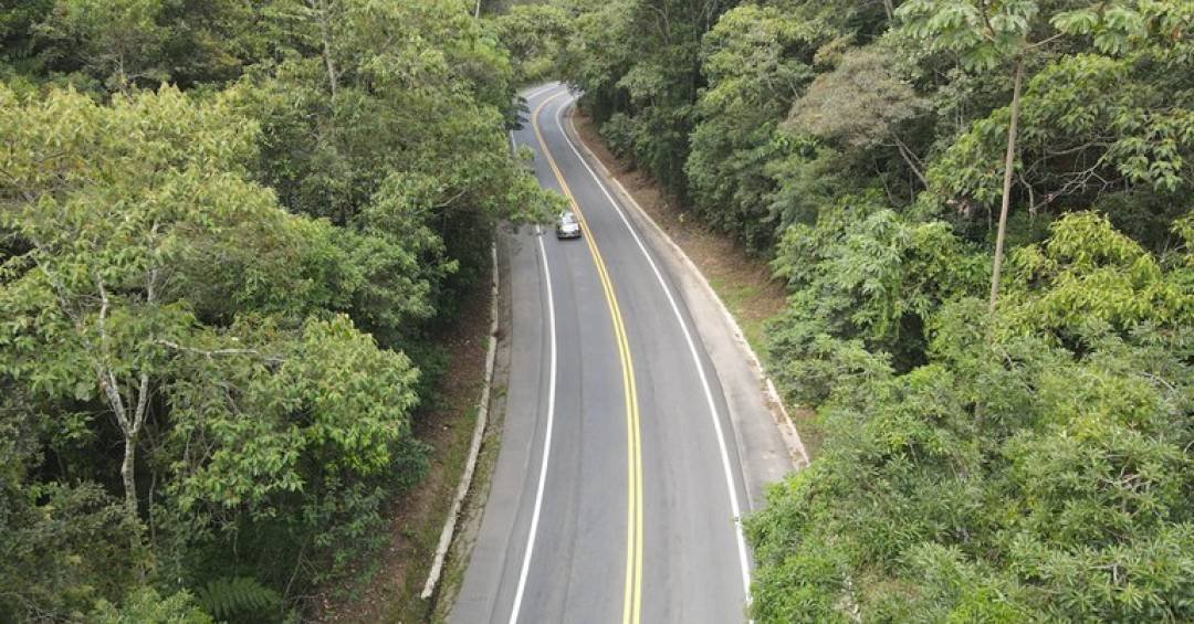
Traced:
[[642, 611], [642, 453], [639, 439], [639, 396], [634, 385], [634, 363], [630, 360], [630, 344], [626, 339], [626, 326], [622, 323], [622, 311], [617, 307], [617, 296], [614, 294], [614, 284], [610, 282], [609, 271], [605, 270], [605, 261], [597, 248], [589, 222], [585, 221], [584, 211], [577, 204], [576, 197], [568, 189], [560, 167], [552, 155], [552, 150], [543, 141], [543, 134], [538, 128], [538, 115], [552, 100], [555, 100], [566, 92], [561, 91], [543, 100], [535, 107], [530, 116], [531, 128], [535, 130], [535, 138], [540, 149], [547, 156], [547, 163], [552, 167], [552, 173], [560, 183], [564, 196], [572, 205], [573, 212], [580, 221], [585, 242], [589, 243], [589, 252], [593, 257], [597, 266], [597, 277], [601, 279], [602, 290], [605, 292], [605, 302], [609, 304], [610, 319], [614, 322], [614, 338], [617, 341], [618, 357], [622, 360], [622, 389], [626, 395], [626, 439], [627, 439], [627, 499], [626, 499], [626, 591], [622, 604], [622, 622], [624, 624], [638, 624]]

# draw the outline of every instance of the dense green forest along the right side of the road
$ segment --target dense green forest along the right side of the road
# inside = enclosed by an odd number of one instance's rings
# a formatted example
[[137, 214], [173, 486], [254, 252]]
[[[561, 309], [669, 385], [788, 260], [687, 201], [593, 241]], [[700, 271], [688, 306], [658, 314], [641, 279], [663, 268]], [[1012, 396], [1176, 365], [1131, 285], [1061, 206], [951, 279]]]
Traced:
[[756, 619], [1194, 619], [1194, 4], [501, 20], [787, 286], [765, 359], [825, 441], [749, 523]]

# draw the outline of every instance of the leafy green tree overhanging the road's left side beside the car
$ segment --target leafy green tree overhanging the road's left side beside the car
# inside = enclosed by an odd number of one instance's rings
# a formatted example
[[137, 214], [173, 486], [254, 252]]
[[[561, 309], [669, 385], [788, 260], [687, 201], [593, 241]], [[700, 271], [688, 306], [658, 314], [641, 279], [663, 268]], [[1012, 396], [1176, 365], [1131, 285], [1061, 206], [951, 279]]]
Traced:
[[[509, 157], [500, 130], [512, 106], [509, 61], [460, 8], [337, 2], [303, 24], [315, 44], [327, 23], [325, 56], [288, 60], [273, 75], [247, 80], [242, 103], [263, 125], [259, 175], [285, 206], [345, 224], [402, 172], [402, 184], [416, 186], [408, 200], [427, 212], [546, 214], [547, 200]], [[441, 52], [423, 54], [427, 47]]]

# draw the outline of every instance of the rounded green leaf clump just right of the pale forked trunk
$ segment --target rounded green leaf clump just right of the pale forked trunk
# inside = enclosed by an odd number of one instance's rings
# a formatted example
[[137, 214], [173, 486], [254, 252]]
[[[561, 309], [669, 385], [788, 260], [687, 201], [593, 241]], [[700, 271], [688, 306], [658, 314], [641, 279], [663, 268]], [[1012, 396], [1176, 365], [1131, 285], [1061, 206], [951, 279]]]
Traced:
[[[185, 375], [168, 387], [178, 443], [211, 449], [173, 465], [172, 490], [184, 509], [245, 506], [272, 515], [282, 511], [276, 494], [316, 478], [310, 463], [319, 474], [346, 476], [392, 465], [417, 401], [418, 372], [404, 354], [378, 350], [344, 317], [308, 322], [290, 340], [272, 327], [233, 329], [242, 342], [267, 345], [269, 354], [214, 362], [203, 348], [184, 356]], [[216, 375], [234, 396], [210, 391]]]

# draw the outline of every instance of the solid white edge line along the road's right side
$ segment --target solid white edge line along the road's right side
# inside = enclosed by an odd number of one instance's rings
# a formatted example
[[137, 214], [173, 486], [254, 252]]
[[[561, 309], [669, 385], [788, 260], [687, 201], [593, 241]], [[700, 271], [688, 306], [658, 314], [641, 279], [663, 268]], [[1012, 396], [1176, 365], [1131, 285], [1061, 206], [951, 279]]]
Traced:
[[651, 258], [651, 254], [647, 252], [646, 246], [642, 245], [642, 239], [639, 237], [639, 233], [634, 230], [634, 227], [630, 225], [629, 220], [626, 218], [626, 214], [622, 211], [622, 206], [617, 204], [617, 202], [610, 194], [609, 190], [605, 189], [605, 184], [601, 181], [601, 178], [597, 177], [597, 173], [593, 172], [592, 167], [589, 166], [589, 162], [585, 161], [584, 156], [580, 155], [580, 152], [577, 149], [577, 146], [572, 143], [572, 138], [570, 138], [568, 134], [564, 130], [564, 122], [561, 121], [560, 117], [564, 113], [564, 109], [566, 109], [567, 106], [568, 104], [565, 104], [559, 109], [556, 109], [555, 111], [555, 124], [560, 129], [560, 135], [564, 136], [564, 141], [572, 149], [572, 153], [576, 154], [577, 160], [579, 160], [580, 163], [584, 165], [585, 171], [589, 172], [589, 175], [591, 175], [593, 181], [597, 183], [597, 187], [601, 189], [602, 193], [605, 196], [605, 199], [608, 199], [609, 204], [614, 206], [614, 210], [617, 212], [617, 216], [621, 217], [622, 223], [626, 225], [626, 229], [630, 233], [630, 236], [634, 237], [634, 242], [639, 246], [639, 251], [642, 252], [642, 257], [646, 258], [647, 264], [651, 265], [651, 270], [652, 272], [654, 272], [656, 279], [659, 282], [659, 286], [663, 289], [664, 295], [667, 297], [667, 303], [671, 305], [672, 313], [676, 315], [676, 320], [679, 322], [679, 327], [684, 333], [684, 341], [688, 342], [688, 351], [689, 354], [693, 356], [693, 363], [696, 364], [696, 371], [701, 378], [701, 387], [704, 390], [704, 400], [706, 403], [708, 403], [709, 406], [709, 418], [713, 420], [713, 427], [718, 434], [718, 450], [721, 452], [721, 469], [726, 476], [726, 488], [730, 490], [730, 508], [734, 517], [734, 533], [738, 539], [738, 563], [741, 567], [743, 589], [746, 592], [746, 600], [749, 601], [750, 557], [746, 554], [746, 539], [745, 537], [743, 537], [741, 507], [738, 505], [738, 488], [734, 484], [734, 474], [730, 464], [730, 451], [726, 449], [726, 437], [725, 432], [721, 428], [721, 418], [718, 413], [716, 402], [713, 400], [713, 390], [709, 388], [709, 379], [704, 372], [704, 364], [701, 362], [700, 353], [696, 350], [696, 344], [693, 341], [693, 333], [689, 330], [688, 323], [684, 321], [684, 315], [681, 314], [679, 305], [676, 304], [676, 297], [672, 296], [671, 289], [667, 288], [667, 283], [664, 280], [663, 273], [660, 273], [659, 271], [659, 266], [656, 265], [656, 260]]

